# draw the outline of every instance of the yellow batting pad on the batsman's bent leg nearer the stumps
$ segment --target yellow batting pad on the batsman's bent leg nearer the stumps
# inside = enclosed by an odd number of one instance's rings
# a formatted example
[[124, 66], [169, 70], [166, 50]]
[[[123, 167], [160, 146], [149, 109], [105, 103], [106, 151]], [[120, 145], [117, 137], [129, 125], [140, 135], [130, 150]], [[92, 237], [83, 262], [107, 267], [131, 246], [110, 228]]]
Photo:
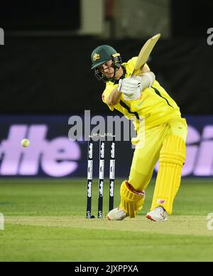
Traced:
[[145, 199], [145, 193], [134, 193], [128, 187], [128, 182], [124, 181], [121, 184], [121, 203], [119, 208], [121, 208], [126, 216], [130, 218], [135, 218], [136, 213], [143, 208], [143, 202]]

